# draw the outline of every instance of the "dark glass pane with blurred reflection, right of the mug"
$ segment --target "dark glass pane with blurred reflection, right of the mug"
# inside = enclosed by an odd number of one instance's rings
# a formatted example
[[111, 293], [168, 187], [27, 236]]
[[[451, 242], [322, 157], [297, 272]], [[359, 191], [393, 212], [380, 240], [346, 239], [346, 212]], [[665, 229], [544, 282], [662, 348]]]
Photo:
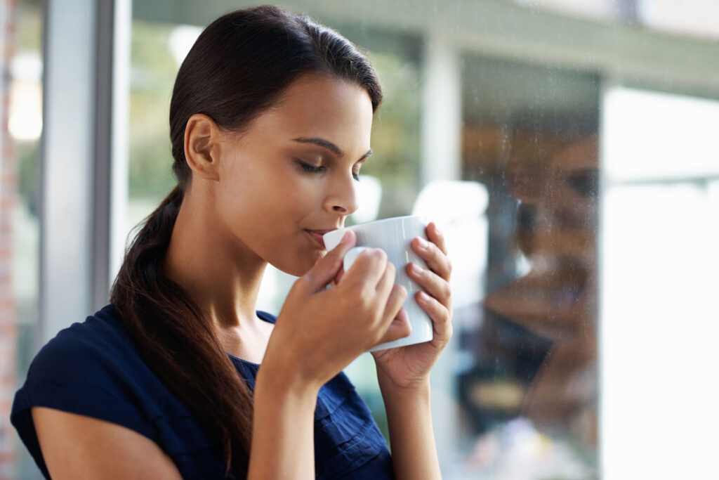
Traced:
[[468, 55], [462, 81], [463, 176], [489, 197], [483, 307], [455, 307], [467, 471], [590, 478], [599, 79]]

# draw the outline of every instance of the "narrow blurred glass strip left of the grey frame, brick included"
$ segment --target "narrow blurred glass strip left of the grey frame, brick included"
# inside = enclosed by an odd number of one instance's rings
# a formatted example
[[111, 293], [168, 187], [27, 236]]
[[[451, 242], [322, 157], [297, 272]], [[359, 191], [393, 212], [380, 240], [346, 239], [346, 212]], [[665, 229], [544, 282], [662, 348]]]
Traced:
[[39, 1], [3, 2], [0, 19], [6, 120], [0, 138], [0, 478], [40, 478], [9, 415], [35, 354], [38, 319], [42, 131], [42, 11]]

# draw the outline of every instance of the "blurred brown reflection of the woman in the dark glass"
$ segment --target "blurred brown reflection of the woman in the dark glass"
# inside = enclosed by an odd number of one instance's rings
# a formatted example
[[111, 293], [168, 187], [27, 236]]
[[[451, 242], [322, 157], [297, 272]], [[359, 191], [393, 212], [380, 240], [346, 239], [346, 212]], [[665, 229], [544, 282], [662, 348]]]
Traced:
[[595, 443], [597, 152], [590, 135], [533, 168], [510, 164], [505, 178], [521, 201], [518, 246], [531, 269], [485, 299], [488, 309], [553, 340], [523, 415], [569, 427], [588, 446]]

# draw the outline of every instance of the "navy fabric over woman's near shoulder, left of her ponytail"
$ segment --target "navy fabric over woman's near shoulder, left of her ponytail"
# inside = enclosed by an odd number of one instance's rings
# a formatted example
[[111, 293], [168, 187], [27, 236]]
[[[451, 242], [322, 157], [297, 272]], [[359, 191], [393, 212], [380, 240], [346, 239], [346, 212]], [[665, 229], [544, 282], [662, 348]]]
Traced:
[[[217, 453], [221, 450], [143, 361], [118, 310], [111, 305], [50, 340], [37, 353], [24, 385], [15, 394], [12, 424], [37, 465], [46, 472], [32, 415], [35, 407], [104, 420], [133, 430], [159, 445], [183, 476], [214, 478], [212, 472], [224, 468]], [[54, 418], [74, 417], [54, 415]], [[101, 430], [124, 432], [108, 425]]]

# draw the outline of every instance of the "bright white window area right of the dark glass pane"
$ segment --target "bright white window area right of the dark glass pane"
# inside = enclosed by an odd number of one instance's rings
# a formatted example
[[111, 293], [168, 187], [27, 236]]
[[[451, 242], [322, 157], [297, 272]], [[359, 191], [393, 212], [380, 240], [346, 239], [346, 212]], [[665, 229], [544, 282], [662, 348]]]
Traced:
[[719, 102], [616, 89], [603, 115], [602, 478], [709, 478], [719, 431]]

